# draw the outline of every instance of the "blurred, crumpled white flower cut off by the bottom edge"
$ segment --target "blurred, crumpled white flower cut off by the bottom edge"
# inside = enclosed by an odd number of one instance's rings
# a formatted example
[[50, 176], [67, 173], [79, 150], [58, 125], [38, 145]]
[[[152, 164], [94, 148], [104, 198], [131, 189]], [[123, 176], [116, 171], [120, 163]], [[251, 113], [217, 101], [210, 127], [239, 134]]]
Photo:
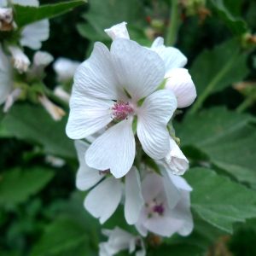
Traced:
[[146, 255], [140, 236], [133, 236], [119, 227], [115, 227], [114, 230], [103, 230], [102, 233], [108, 236], [108, 241], [100, 243], [100, 256], [113, 256], [123, 250], [129, 250], [130, 254], [135, 253], [136, 256]]

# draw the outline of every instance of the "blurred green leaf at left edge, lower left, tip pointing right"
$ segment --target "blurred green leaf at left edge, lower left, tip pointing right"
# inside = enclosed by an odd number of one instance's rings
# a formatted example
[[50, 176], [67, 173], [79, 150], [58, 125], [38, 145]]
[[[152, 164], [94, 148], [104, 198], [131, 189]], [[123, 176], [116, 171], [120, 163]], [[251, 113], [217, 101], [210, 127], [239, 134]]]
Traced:
[[7, 170], [0, 176], [0, 205], [9, 207], [26, 201], [49, 183], [54, 172], [42, 167]]

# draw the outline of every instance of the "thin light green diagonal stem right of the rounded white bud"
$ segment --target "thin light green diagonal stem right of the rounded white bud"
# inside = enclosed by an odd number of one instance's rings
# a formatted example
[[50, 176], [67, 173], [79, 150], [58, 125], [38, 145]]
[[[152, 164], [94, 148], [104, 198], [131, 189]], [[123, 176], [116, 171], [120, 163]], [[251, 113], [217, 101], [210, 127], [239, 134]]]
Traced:
[[224, 75], [230, 71], [230, 67], [232, 67], [232, 65], [234, 64], [235, 59], [236, 54], [233, 55], [233, 57], [230, 59], [230, 61], [227, 62], [224, 68], [207, 85], [207, 88], [197, 98], [195, 104], [189, 111], [189, 114], [195, 114], [201, 108], [203, 102], [205, 102], [205, 100], [207, 99], [207, 96], [209, 96], [212, 93], [212, 90], [216, 87], [216, 85], [218, 85], [219, 81], [223, 79]]

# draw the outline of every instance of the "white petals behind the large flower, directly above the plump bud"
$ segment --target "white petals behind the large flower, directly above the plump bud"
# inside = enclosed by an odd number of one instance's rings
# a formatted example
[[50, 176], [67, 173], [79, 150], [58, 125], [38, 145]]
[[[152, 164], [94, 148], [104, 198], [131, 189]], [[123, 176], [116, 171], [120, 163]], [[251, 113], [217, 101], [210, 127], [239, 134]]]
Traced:
[[165, 62], [166, 73], [172, 70], [172, 68], [184, 67], [188, 62], [180, 50], [174, 47], [166, 47], [163, 38], [156, 38], [151, 49], [160, 55]]

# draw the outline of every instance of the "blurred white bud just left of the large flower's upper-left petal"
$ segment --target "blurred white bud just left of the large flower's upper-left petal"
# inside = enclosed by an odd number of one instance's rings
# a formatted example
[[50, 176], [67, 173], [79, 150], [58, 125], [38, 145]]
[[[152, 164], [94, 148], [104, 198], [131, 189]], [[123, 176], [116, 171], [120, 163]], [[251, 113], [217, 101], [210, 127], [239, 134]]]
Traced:
[[66, 58], [59, 58], [54, 63], [54, 70], [60, 82], [68, 82], [79, 67], [79, 61], [71, 61]]

